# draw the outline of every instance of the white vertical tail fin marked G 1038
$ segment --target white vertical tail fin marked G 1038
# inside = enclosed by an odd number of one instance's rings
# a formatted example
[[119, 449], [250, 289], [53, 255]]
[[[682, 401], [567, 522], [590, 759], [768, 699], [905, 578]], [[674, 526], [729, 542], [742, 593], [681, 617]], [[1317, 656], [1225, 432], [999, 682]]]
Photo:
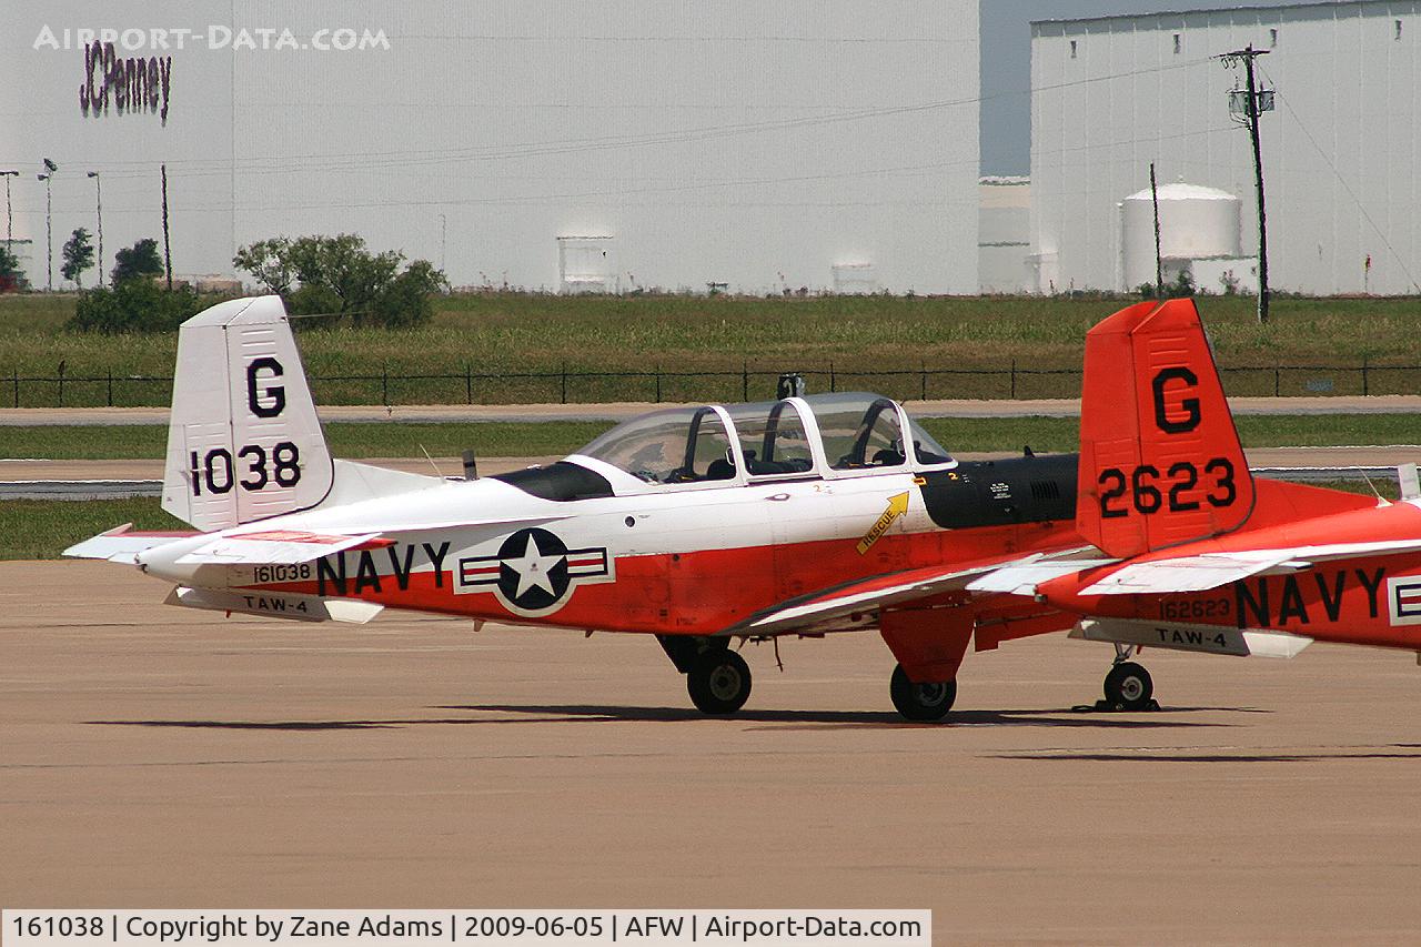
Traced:
[[183, 323], [163, 509], [226, 529], [315, 506], [333, 482], [281, 297], [220, 303]]

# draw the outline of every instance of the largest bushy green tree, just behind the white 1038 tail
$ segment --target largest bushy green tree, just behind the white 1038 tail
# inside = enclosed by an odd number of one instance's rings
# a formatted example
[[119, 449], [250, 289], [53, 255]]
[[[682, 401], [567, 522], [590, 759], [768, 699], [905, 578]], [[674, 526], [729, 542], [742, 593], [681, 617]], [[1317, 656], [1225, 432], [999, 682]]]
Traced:
[[320, 313], [354, 326], [416, 326], [433, 314], [429, 297], [449, 287], [428, 260], [401, 269], [404, 253], [371, 253], [354, 233], [259, 240], [232, 262], [283, 296], [293, 314]]

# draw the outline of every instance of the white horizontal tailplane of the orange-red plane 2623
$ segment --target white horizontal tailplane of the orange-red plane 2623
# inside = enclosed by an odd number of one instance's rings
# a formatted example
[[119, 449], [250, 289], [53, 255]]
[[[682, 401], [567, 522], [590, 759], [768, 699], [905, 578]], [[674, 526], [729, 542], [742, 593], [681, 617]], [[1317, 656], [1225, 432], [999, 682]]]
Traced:
[[1319, 562], [1421, 550], [1421, 539], [1327, 543], [1290, 549], [1248, 549], [1137, 562], [1086, 589], [1083, 596], [1128, 596], [1162, 592], [1206, 592], [1239, 579], [1310, 569]]

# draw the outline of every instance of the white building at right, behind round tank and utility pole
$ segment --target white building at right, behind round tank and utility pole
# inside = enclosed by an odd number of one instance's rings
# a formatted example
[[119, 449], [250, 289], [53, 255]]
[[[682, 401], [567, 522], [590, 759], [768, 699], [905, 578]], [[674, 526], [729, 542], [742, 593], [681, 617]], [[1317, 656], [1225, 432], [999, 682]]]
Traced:
[[[1196, 255], [1196, 282], [1211, 291], [1221, 291], [1216, 282], [1229, 272], [1243, 286], [1256, 280], [1231, 259], [1258, 252], [1252, 146], [1228, 98], [1242, 88], [1243, 71], [1214, 58], [1249, 44], [1268, 50], [1258, 75], [1276, 94], [1260, 121], [1270, 284], [1421, 293], [1417, 0], [1033, 23], [1037, 291], [1144, 282], [1135, 205], [1148, 196], [1150, 162], [1168, 188], [1164, 255], [1192, 247], [1178, 252]], [[1206, 233], [1179, 232], [1187, 222]], [[1152, 282], [1152, 220], [1144, 239]]]

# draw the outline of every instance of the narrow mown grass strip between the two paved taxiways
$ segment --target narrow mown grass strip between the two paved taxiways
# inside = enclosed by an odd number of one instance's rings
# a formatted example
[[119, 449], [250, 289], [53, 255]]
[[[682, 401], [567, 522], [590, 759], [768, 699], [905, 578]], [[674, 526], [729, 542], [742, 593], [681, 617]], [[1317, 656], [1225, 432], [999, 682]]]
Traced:
[[[1080, 427], [1073, 418], [926, 418], [922, 425], [949, 451], [1074, 451]], [[1249, 415], [1238, 418], [1245, 446], [1333, 446], [1418, 444], [1421, 419], [1404, 414]], [[549, 456], [571, 454], [611, 425], [601, 421], [537, 424], [328, 424], [335, 456]], [[4, 427], [0, 458], [158, 459], [168, 429], [132, 427]]]

